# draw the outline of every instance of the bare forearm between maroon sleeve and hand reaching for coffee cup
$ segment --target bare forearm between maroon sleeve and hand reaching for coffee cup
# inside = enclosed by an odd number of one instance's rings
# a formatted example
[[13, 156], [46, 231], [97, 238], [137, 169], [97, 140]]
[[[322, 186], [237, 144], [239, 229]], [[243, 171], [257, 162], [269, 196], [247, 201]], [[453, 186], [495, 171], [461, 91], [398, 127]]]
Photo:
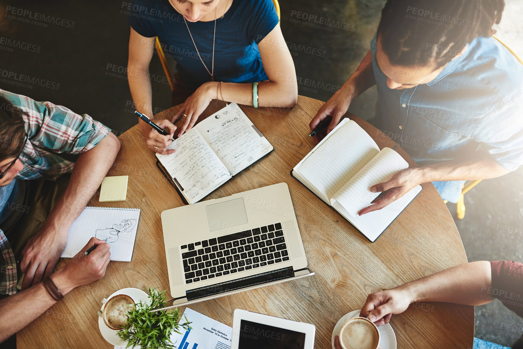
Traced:
[[394, 289], [407, 291], [411, 303], [429, 301], [477, 306], [492, 301], [481, 297], [482, 289], [491, 285], [490, 263], [481, 261], [458, 265]]

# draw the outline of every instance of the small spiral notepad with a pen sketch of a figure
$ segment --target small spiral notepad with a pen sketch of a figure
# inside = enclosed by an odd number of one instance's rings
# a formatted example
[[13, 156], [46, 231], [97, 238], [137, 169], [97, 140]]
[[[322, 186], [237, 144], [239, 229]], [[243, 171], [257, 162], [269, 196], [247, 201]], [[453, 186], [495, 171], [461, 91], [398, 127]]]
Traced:
[[62, 258], [72, 258], [92, 237], [110, 246], [111, 261], [131, 262], [140, 209], [87, 206], [67, 233]]

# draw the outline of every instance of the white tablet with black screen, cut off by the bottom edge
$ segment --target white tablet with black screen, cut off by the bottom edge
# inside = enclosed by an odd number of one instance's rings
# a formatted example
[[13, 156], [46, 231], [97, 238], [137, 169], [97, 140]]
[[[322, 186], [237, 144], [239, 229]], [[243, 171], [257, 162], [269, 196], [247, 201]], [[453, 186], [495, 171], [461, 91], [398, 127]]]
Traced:
[[231, 349], [313, 349], [316, 327], [310, 323], [234, 310]]

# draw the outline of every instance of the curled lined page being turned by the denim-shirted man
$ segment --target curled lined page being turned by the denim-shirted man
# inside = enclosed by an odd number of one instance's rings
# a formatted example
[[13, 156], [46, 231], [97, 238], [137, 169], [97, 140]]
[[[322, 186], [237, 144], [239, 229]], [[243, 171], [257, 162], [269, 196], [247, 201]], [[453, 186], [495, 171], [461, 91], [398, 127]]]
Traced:
[[368, 164], [338, 190], [331, 198], [331, 205], [338, 201], [350, 216], [370, 205], [380, 193], [370, 192], [370, 187], [386, 182], [398, 171], [407, 168], [408, 163], [391, 148], [383, 148]]

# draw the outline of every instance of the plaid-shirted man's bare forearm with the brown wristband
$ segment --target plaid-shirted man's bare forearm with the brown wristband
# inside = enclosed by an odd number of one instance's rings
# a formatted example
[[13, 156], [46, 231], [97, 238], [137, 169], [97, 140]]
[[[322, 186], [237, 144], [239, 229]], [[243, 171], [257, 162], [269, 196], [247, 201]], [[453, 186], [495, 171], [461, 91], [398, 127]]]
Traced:
[[[53, 274], [51, 279], [62, 295], [73, 289], [60, 272]], [[51, 298], [43, 283], [0, 300], [0, 343], [26, 327], [54, 303], [56, 301]]]

